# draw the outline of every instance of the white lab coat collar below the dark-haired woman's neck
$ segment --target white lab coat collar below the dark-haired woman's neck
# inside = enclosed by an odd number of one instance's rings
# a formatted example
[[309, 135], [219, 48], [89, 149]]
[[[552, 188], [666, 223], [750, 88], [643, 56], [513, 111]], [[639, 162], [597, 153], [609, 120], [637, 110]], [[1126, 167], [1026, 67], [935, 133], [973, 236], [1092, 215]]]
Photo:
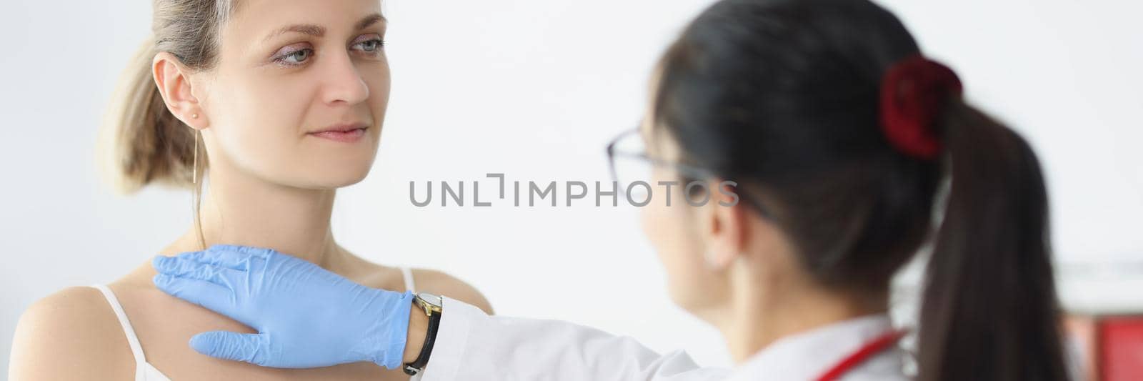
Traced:
[[[889, 316], [877, 313], [782, 338], [742, 363], [728, 380], [815, 380], [892, 328]], [[894, 346], [863, 362], [844, 378], [904, 379], [903, 363], [904, 351]]]

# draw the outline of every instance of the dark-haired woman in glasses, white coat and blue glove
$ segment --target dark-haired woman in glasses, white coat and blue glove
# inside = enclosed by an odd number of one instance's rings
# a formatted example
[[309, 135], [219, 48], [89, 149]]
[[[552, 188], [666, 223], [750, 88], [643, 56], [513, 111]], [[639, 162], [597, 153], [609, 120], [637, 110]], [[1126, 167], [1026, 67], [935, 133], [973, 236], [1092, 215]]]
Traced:
[[[735, 370], [447, 297], [410, 305], [265, 249], [160, 257], [155, 283], [261, 332], [205, 333], [197, 349], [266, 366], [387, 338], [344, 360], [425, 380], [1068, 379], [1036, 156], [966, 104], [957, 76], [890, 13], [866, 0], [719, 1], [671, 45], [652, 87], [642, 126], [609, 151], [614, 168], [632, 160], [652, 176], [616, 180], [717, 189], [677, 188], [670, 206], [644, 208], [644, 227], [674, 302], [721, 331]], [[896, 328], [889, 280], [926, 244], [919, 325]], [[329, 297], [282, 302], [282, 288]], [[363, 308], [361, 295], [402, 302]], [[314, 309], [347, 323], [313, 324]], [[896, 346], [906, 331], [919, 339], [914, 375]], [[369, 334], [326, 339], [345, 332]]]

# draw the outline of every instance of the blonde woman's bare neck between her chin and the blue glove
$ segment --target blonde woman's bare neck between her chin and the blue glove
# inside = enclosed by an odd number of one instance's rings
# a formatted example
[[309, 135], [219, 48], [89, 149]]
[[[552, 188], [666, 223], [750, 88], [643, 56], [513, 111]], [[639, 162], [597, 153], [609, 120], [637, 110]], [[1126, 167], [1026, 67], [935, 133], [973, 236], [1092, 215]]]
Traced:
[[201, 240], [192, 225], [168, 247], [170, 254], [217, 244], [257, 246], [329, 270], [344, 259], [329, 225], [336, 190], [283, 186], [234, 170], [211, 170], [206, 185], [199, 209]]

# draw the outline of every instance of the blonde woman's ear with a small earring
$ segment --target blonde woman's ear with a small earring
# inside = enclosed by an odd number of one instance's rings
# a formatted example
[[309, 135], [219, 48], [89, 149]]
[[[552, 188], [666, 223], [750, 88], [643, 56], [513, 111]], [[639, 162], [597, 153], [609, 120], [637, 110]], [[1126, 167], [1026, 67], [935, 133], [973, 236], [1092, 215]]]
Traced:
[[175, 118], [194, 129], [209, 126], [206, 112], [192, 92], [190, 70], [178, 57], [167, 51], [159, 53], [151, 63], [151, 71], [167, 110]]

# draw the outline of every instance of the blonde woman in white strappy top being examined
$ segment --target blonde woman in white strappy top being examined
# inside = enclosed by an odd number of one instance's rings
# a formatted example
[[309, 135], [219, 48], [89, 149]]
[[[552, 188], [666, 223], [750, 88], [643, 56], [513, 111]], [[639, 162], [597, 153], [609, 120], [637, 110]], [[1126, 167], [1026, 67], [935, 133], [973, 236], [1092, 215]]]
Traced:
[[[128, 69], [105, 136], [125, 191], [192, 190], [195, 221], [167, 247], [297, 253], [373, 288], [447, 294], [490, 310], [448, 275], [370, 263], [330, 232], [338, 188], [377, 152], [390, 93], [378, 0], [155, 0], [153, 40]], [[288, 370], [187, 346], [202, 331], [254, 332], [155, 288], [153, 253], [106, 285], [71, 287], [21, 318], [10, 380], [398, 380], [370, 362]]]

